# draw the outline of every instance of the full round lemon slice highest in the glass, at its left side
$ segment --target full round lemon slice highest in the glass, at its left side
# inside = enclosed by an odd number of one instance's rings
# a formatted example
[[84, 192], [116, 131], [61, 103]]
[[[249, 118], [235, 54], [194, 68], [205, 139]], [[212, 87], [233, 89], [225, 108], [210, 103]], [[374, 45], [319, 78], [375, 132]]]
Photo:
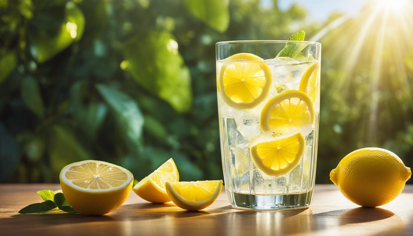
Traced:
[[264, 60], [251, 53], [238, 53], [225, 59], [217, 90], [226, 104], [237, 109], [259, 105], [271, 87], [271, 71]]

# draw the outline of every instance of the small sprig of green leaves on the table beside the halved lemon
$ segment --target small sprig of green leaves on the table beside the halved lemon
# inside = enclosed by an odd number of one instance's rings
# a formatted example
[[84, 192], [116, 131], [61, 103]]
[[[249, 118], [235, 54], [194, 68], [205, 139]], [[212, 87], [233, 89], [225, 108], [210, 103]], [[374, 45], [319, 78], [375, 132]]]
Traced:
[[30, 214], [30, 213], [44, 213], [55, 209], [56, 207], [64, 212], [78, 213], [74, 210], [69, 203], [67, 203], [66, 198], [63, 193], [54, 193], [50, 189], [40, 190], [36, 192], [44, 200], [42, 203], [33, 203], [23, 209], [19, 210], [20, 214]]

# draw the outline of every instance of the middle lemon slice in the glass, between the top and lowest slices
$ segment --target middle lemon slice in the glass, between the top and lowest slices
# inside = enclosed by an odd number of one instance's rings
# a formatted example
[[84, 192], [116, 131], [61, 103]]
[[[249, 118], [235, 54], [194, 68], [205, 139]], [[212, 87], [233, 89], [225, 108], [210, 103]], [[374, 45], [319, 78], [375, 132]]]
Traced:
[[314, 108], [306, 93], [288, 90], [271, 98], [261, 112], [263, 131], [278, 134], [299, 132], [314, 122]]

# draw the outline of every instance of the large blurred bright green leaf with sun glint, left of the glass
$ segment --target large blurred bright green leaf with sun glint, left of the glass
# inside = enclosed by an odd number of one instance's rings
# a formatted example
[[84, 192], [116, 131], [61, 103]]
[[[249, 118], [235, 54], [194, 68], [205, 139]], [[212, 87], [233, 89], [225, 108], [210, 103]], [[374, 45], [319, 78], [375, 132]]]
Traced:
[[123, 45], [126, 69], [143, 88], [187, 112], [192, 103], [191, 76], [178, 52], [178, 43], [167, 31], [151, 31]]

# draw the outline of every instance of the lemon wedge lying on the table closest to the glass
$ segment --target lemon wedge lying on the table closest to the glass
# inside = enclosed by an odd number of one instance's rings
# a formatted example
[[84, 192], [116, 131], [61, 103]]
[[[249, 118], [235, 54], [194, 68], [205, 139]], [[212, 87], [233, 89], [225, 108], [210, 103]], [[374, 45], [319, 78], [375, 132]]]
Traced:
[[222, 180], [166, 182], [166, 192], [178, 207], [202, 210], [211, 205], [222, 189]]

